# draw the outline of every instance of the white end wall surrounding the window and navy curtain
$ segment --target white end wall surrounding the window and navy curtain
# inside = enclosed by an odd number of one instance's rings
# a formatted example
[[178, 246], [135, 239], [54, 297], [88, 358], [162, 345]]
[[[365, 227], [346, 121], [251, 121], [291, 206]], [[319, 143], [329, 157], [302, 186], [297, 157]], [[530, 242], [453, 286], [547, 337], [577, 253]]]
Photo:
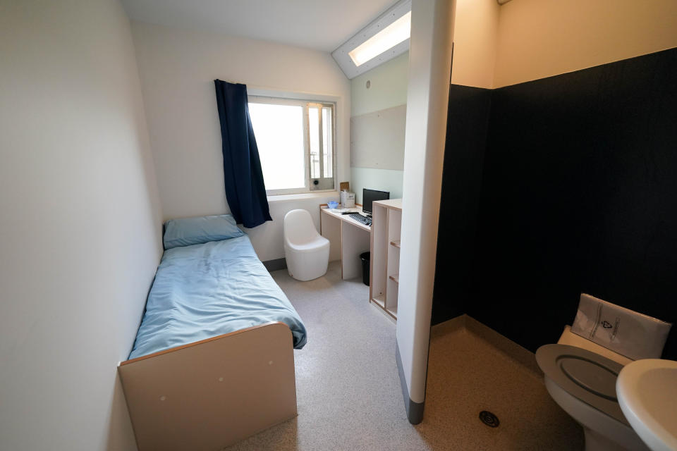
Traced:
[[[338, 182], [350, 180], [350, 81], [331, 55], [272, 42], [132, 23], [164, 218], [228, 212], [214, 79], [337, 101]], [[283, 257], [282, 219], [305, 208], [319, 227], [320, 194], [271, 203], [272, 222], [248, 230], [260, 259]]]

